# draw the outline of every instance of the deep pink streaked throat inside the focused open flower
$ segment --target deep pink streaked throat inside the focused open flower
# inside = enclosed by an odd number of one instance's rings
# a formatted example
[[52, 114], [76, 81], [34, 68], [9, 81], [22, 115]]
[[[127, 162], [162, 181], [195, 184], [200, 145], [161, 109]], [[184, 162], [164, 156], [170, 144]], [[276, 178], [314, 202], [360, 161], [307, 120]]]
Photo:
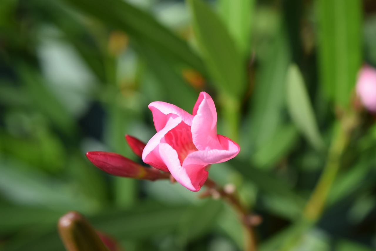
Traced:
[[191, 127], [184, 122], [180, 122], [174, 129], [166, 133], [164, 139], [167, 144], [176, 150], [180, 165], [183, 164], [188, 154], [197, 151], [196, 146], [193, 144]]

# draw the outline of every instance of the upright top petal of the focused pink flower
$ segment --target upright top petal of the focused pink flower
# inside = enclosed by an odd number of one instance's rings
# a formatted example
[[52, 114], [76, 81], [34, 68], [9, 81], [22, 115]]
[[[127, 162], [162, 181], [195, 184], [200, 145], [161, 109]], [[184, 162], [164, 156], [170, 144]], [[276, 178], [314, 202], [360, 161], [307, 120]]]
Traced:
[[200, 93], [194, 105], [193, 114], [191, 132], [196, 148], [198, 150], [221, 149], [217, 138], [217, 111], [208, 93]]

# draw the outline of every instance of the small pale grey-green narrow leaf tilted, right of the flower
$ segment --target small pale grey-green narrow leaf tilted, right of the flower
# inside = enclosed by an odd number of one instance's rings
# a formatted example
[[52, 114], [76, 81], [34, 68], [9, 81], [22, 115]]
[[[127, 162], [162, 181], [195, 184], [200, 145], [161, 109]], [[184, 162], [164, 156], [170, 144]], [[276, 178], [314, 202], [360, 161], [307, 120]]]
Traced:
[[295, 64], [288, 68], [286, 89], [287, 108], [291, 118], [308, 142], [318, 151], [322, 150], [324, 143], [318, 131], [314, 111], [304, 86], [302, 74]]

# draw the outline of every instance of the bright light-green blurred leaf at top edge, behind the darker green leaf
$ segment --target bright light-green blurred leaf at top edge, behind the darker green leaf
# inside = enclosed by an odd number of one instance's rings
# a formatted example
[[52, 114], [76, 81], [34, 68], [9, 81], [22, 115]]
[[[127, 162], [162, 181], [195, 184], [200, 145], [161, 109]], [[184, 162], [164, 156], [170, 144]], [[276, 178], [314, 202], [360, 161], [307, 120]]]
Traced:
[[243, 57], [249, 57], [255, 0], [220, 0], [219, 8]]

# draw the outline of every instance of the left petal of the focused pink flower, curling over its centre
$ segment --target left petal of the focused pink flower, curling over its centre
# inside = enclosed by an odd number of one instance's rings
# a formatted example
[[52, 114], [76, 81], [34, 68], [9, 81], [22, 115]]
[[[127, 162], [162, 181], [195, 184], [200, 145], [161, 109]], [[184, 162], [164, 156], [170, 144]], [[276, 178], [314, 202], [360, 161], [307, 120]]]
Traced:
[[162, 171], [168, 171], [165, 163], [159, 154], [159, 144], [161, 144], [162, 139], [170, 130], [176, 127], [182, 119], [180, 117], [170, 118], [165, 127], [159, 132], [157, 132], [150, 140], [147, 142], [143, 153], [142, 160], [146, 163]]

